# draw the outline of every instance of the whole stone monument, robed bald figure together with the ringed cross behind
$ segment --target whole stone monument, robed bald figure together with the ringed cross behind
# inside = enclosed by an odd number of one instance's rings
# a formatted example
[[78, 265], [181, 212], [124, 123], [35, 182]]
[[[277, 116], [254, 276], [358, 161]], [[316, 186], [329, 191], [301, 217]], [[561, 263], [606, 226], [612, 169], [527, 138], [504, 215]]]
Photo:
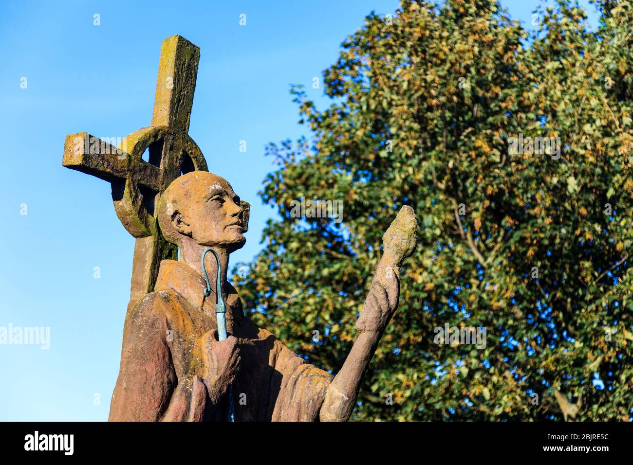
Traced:
[[[226, 180], [206, 171], [202, 152], [187, 134], [198, 60], [191, 42], [168, 37], [150, 127], [118, 147], [87, 133], [66, 137], [64, 166], [110, 182], [116, 213], [136, 238], [110, 420], [221, 420], [230, 386], [236, 421], [346, 421], [398, 307], [399, 267], [416, 245], [413, 209], [404, 206], [383, 236], [384, 253], [356, 322], [359, 335], [339, 373], [305, 363], [244, 316], [226, 279], [230, 253], [246, 242], [250, 206]], [[149, 162], [141, 159], [145, 149]], [[200, 263], [210, 247], [220, 260], [227, 307], [229, 337], [223, 341], [215, 288], [205, 295]], [[211, 254], [204, 268], [215, 282]]]

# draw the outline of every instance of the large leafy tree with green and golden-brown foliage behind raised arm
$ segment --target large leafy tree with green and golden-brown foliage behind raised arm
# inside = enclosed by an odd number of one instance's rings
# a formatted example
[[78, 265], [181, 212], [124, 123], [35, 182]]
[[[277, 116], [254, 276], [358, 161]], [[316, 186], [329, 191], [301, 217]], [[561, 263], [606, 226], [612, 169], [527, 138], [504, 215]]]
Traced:
[[[382, 233], [404, 204], [420, 223], [354, 419], [632, 415], [633, 4], [598, 7], [595, 32], [559, 0], [528, 34], [496, 1], [403, 1], [344, 40], [329, 108], [291, 90], [312, 137], [268, 147], [279, 219], [234, 276], [251, 316], [335, 373]], [[342, 223], [294, 218], [301, 197]]]

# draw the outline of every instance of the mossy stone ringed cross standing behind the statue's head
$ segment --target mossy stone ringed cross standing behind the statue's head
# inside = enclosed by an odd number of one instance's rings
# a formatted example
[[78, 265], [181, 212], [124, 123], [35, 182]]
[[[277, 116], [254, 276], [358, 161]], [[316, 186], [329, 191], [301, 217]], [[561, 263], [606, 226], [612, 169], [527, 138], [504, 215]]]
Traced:
[[[158, 199], [170, 183], [189, 171], [207, 171], [204, 156], [189, 134], [200, 49], [173, 35], [163, 40], [151, 126], [114, 146], [85, 132], [66, 136], [62, 164], [110, 182], [116, 214], [136, 238], [128, 310], [151, 292], [162, 259], [177, 257], [175, 245], [159, 231]], [[149, 161], [142, 155], [149, 152]]]

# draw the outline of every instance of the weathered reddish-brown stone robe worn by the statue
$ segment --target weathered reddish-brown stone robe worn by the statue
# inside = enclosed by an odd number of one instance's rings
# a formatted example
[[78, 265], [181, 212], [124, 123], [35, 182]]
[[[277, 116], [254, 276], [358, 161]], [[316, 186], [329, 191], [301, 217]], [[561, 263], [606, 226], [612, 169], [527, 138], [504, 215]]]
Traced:
[[[204, 297], [205, 288], [189, 266], [163, 260], [154, 292], [137, 302], [125, 321], [110, 421], [225, 418], [227, 396], [214, 406], [208, 395], [203, 336], [217, 323], [215, 290]], [[333, 376], [246, 318], [234, 288], [225, 303], [227, 332], [237, 338], [241, 356], [232, 383], [235, 421], [317, 420]]]

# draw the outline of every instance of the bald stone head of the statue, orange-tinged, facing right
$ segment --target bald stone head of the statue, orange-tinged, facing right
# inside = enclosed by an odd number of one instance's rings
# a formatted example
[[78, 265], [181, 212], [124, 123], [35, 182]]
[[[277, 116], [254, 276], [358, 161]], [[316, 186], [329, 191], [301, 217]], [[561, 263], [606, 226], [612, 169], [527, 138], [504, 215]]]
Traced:
[[234, 251], [246, 242], [248, 208], [224, 178], [192, 171], [161, 195], [158, 223], [165, 238], [179, 247], [184, 237], [191, 237], [200, 245]]

